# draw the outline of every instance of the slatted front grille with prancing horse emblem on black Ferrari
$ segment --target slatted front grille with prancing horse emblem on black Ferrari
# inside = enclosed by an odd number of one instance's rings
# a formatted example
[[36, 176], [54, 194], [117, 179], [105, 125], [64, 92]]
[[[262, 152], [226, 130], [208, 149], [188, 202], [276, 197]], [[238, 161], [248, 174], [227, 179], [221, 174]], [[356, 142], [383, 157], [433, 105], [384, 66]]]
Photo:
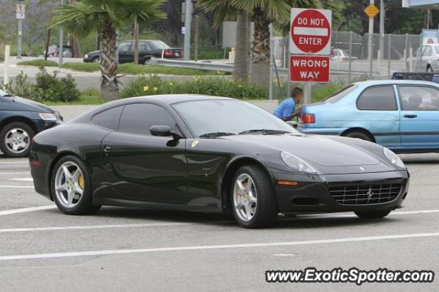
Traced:
[[329, 194], [339, 204], [381, 204], [391, 202], [401, 191], [401, 183], [330, 186]]

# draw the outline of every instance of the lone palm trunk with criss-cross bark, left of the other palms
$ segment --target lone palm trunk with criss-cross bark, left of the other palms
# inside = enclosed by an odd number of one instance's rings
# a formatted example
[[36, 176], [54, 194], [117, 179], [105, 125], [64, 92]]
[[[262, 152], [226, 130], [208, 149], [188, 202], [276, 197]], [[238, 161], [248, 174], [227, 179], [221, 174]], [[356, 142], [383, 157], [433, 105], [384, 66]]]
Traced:
[[102, 47], [100, 51], [101, 97], [105, 99], [119, 98], [117, 81], [117, 34], [110, 21], [105, 21], [101, 32]]

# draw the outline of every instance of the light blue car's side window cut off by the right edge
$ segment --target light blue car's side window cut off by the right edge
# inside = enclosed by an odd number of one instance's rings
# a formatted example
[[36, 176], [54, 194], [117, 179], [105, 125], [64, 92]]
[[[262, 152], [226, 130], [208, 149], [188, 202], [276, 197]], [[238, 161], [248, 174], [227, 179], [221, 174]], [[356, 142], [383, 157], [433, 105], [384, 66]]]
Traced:
[[404, 111], [439, 110], [439, 90], [429, 86], [399, 86], [401, 107]]

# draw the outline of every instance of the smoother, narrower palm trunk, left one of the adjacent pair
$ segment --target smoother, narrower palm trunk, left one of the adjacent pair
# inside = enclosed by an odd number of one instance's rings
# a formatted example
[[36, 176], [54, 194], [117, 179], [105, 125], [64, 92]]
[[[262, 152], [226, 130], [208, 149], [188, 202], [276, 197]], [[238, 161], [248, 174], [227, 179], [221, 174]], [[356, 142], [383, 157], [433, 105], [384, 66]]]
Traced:
[[248, 82], [248, 64], [250, 62], [250, 55], [248, 54], [248, 46], [250, 44], [250, 29], [248, 23], [248, 12], [238, 12], [233, 80], [239, 82]]

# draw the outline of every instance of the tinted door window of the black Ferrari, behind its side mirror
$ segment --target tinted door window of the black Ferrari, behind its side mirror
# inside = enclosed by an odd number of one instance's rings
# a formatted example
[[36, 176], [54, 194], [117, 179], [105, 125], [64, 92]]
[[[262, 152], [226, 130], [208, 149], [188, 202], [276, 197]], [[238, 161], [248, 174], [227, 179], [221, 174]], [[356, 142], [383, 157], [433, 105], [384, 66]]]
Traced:
[[119, 131], [139, 135], [151, 135], [152, 126], [169, 126], [178, 131], [176, 120], [163, 107], [150, 103], [126, 105], [123, 109]]

